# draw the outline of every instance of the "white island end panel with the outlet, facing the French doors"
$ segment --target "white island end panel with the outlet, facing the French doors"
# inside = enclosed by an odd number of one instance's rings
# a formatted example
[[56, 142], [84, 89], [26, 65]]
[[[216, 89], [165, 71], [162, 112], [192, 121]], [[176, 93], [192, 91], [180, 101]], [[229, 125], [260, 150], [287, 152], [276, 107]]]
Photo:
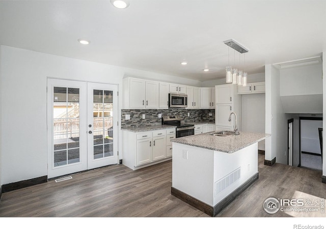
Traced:
[[172, 187], [213, 206], [214, 151], [173, 142]]

